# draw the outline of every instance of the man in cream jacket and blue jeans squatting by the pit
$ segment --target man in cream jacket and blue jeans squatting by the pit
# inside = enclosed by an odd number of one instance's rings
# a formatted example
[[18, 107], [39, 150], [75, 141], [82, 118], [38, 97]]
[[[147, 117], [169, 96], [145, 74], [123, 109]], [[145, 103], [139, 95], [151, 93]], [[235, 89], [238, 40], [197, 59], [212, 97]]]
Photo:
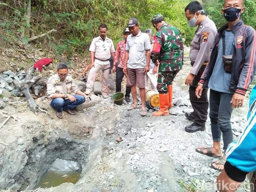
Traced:
[[48, 79], [47, 94], [50, 105], [56, 109], [56, 115], [59, 118], [63, 118], [63, 110], [75, 115], [72, 109], [84, 103], [87, 97], [76, 86], [71, 75], [68, 74], [68, 66], [64, 63], [60, 63], [57, 66], [57, 74]]

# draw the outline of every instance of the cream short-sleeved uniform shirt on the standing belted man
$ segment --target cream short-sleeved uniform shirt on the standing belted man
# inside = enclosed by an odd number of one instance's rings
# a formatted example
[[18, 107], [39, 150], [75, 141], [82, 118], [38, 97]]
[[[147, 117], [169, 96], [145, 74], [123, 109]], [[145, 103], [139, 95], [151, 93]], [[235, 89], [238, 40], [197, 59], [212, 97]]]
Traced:
[[[115, 52], [113, 41], [106, 37], [105, 41], [99, 36], [93, 38], [89, 51], [95, 52], [94, 57], [101, 60], [108, 60], [111, 56], [110, 53]], [[109, 61], [108, 63], [109, 64]]]

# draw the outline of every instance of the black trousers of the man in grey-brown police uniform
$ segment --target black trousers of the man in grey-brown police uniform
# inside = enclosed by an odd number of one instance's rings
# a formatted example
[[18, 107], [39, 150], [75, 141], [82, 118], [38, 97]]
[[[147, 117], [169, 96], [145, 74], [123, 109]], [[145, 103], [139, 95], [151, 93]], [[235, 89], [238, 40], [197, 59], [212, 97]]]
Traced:
[[200, 78], [204, 72], [206, 66], [202, 66], [199, 70], [198, 74], [195, 76], [192, 86], [189, 87], [189, 99], [191, 102], [191, 105], [193, 107], [193, 114], [195, 116], [195, 122], [197, 125], [204, 126], [205, 122], [207, 120], [207, 114], [208, 114], [208, 98], [207, 98], [207, 89], [204, 89], [201, 95], [200, 99], [197, 99], [195, 91], [198, 82], [200, 81]]

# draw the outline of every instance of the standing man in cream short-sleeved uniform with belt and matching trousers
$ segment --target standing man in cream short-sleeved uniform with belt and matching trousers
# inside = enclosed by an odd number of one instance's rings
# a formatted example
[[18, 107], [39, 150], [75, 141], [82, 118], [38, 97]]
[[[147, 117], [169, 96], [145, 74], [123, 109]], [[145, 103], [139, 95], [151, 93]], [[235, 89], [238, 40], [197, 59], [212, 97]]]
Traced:
[[107, 37], [108, 26], [99, 26], [99, 37], [95, 37], [91, 42], [89, 51], [91, 56], [91, 70], [88, 74], [85, 94], [89, 95], [93, 91], [93, 84], [97, 72], [102, 70], [101, 94], [103, 98], [108, 97], [108, 78], [110, 72], [110, 57], [115, 57], [113, 41]]

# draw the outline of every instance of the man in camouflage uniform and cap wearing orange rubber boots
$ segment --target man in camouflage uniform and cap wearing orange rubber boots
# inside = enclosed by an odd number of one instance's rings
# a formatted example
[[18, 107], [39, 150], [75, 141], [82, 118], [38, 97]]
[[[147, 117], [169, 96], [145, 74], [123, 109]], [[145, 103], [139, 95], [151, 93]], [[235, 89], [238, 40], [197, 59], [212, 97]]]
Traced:
[[151, 20], [157, 30], [151, 59], [158, 66], [157, 90], [160, 98], [160, 110], [153, 116], [169, 115], [168, 108], [172, 103], [172, 82], [183, 65], [183, 43], [181, 32], [176, 27], [168, 25], [161, 14]]

